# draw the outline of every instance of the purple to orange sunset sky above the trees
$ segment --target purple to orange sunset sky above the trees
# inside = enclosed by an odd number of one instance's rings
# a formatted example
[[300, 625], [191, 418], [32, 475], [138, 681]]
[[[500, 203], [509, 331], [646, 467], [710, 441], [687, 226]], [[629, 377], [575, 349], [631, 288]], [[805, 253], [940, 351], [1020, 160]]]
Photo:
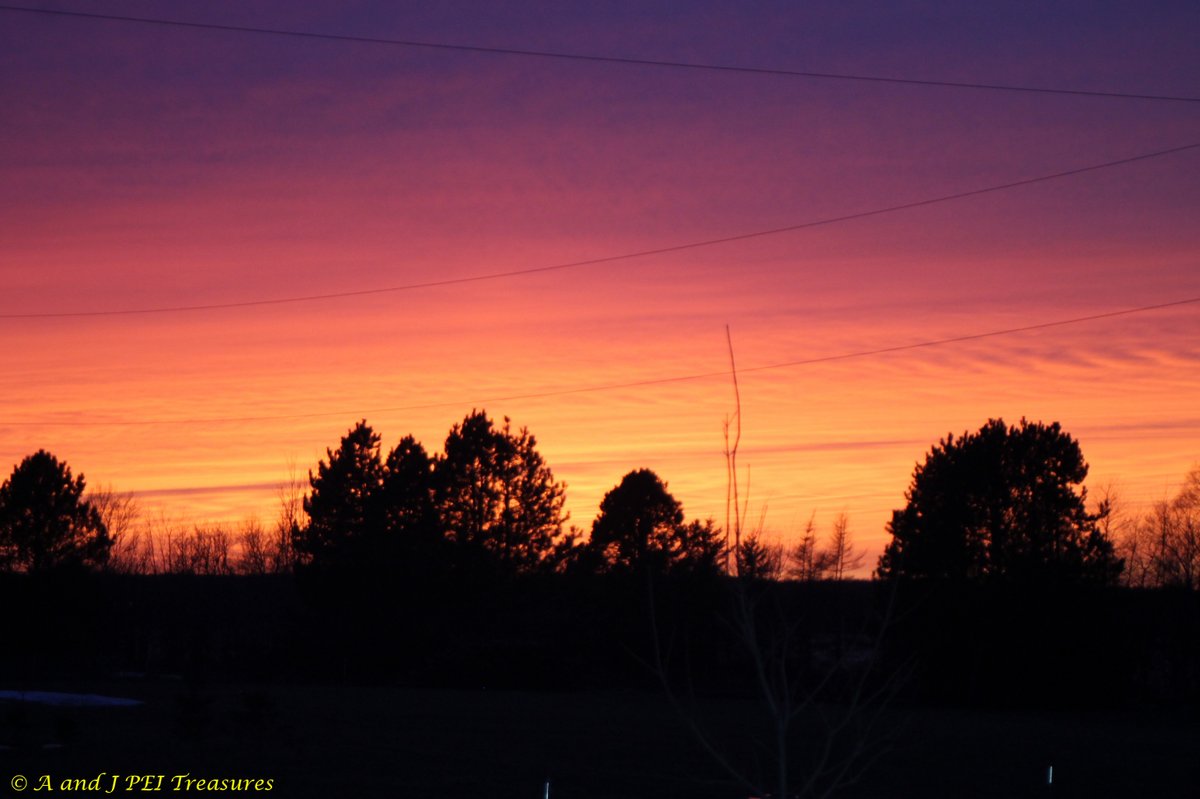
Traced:
[[572, 523], [642, 467], [720, 522], [726, 325], [750, 515], [845, 511], [870, 565], [989, 417], [1134, 507], [1200, 461], [1200, 148], [835, 221], [1200, 144], [1192, 0], [25, 5], [226, 28], [0, 11], [5, 475], [270, 523], [358, 419], [438, 451], [484, 408]]

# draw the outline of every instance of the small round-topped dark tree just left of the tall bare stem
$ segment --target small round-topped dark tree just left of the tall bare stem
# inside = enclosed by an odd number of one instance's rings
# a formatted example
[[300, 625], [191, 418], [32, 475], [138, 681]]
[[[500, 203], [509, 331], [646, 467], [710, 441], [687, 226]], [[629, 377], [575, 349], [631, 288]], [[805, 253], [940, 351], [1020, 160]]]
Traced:
[[605, 494], [589, 545], [611, 571], [716, 571], [722, 541], [712, 522], [684, 523], [683, 505], [649, 469]]

